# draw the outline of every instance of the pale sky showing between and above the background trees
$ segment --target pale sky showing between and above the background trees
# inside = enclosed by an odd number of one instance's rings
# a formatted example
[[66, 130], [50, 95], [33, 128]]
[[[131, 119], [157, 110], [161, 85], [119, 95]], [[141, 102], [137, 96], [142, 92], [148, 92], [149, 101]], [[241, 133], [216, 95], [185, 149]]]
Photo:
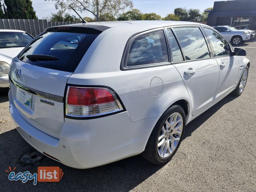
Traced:
[[[177, 7], [186, 7], [187, 9], [204, 9], [213, 7], [214, 1], [221, 0], [133, 0], [134, 8], [139, 9], [142, 13], [154, 12], [162, 17], [166, 14], [173, 13]], [[32, 0], [32, 5], [39, 19], [49, 17], [52, 13], [56, 13], [54, 2], [45, 0]], [[74, 12], [70, 12], [74, 14]], [[83, 12], [81, 16], [93, 17], [92, 14]]]

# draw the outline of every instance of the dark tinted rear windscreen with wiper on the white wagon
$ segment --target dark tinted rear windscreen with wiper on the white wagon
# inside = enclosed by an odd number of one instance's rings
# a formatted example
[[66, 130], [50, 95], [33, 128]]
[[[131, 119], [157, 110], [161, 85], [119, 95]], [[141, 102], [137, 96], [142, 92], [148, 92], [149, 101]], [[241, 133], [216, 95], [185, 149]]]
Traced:
[[48, 31], [38, 36], [19, 59], [40, 67], [74, 72], [99, 34]]

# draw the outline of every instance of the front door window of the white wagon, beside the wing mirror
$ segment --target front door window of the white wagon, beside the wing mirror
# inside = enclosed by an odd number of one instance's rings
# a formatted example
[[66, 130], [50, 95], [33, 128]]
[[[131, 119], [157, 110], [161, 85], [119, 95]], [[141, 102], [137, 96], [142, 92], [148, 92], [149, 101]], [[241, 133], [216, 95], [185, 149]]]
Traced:
[[212, 43], [214, 56], [230, 55], [229, 44], [220, 34], [208, 28], [204, 28], [204, 30]]

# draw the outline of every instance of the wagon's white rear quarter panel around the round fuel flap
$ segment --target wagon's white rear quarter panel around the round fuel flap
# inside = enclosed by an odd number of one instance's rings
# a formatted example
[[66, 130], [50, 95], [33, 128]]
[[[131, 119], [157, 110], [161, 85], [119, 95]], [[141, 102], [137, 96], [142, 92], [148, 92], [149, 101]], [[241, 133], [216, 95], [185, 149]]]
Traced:
[[[159, 77], [163, 82], [159, 96], [153, 96], [150, 92], [150, 82], [154, 77]], [[190, 109], [190, 98], [184, 82], [172, 65], [107, 73], [73, 74], [68, 83], [108, 86], [114, 89], [133, 122], [160, 117], [178, 100], [186, 100]]]

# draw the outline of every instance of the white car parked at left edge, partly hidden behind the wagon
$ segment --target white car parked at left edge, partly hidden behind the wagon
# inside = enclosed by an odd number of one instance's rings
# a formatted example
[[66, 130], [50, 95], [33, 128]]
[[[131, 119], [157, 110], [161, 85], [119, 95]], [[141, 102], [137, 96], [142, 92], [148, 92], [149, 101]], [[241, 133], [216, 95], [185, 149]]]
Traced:
[[0, 30], [0, 88], [9, 87], [8, 72], [12, 58], [33, 39], [21, 30]]

